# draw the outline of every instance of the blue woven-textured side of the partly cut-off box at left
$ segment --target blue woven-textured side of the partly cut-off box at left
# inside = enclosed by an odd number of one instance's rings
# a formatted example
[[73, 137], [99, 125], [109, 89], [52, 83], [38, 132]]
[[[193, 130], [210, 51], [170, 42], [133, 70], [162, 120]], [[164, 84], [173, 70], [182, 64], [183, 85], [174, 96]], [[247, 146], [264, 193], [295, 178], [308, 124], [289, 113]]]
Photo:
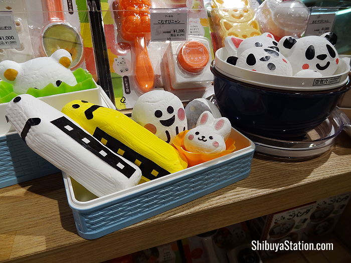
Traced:
[[21, 137], [0, 137], [0, 188], [60, 172], [58, 168], [32, 151]]

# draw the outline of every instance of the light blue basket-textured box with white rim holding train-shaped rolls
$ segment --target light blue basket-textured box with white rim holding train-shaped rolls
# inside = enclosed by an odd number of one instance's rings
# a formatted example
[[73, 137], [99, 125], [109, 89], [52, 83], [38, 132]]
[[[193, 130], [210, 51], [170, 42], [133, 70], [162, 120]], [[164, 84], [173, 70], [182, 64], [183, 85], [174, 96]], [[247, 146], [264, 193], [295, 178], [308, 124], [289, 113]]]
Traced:
[[249, 147], [231, 154], [88, 201], [87, 190], [63, 174], [78, 234], [98, 238], [246, 178], [255, 149], [247, 140]]

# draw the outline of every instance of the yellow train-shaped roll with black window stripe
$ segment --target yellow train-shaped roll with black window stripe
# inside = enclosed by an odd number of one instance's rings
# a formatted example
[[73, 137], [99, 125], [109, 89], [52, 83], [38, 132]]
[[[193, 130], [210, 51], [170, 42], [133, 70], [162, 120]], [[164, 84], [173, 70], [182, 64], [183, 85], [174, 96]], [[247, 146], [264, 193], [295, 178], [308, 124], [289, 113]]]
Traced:
[[174, 147], [116, 110], [75, 100], [62, 112], [112, 151], [139, 166], [142, 181], [188, 167]]

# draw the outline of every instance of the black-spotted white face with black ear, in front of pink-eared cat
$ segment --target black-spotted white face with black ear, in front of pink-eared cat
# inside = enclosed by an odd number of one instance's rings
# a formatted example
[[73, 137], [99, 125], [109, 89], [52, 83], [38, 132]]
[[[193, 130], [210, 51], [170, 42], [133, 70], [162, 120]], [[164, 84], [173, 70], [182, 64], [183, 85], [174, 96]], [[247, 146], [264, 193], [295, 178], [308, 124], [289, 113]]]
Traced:
[[252, 71], [292, 76], [292, 69], [289, 61], [279, 52], [270, 48], [251, 48], [244, 51], [239, 58], [229, 57], [227, 62]]

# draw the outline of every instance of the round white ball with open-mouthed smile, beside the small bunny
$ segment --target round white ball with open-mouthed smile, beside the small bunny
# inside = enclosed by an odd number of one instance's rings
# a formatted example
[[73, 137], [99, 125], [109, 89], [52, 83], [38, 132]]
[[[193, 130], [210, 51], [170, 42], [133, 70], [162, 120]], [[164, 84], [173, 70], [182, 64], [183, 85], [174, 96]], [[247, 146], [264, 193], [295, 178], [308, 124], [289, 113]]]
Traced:
[[182, 101], [163, 90], [141, 95], [134, 105], [132, 119], [167, 143], [188, 126]]

